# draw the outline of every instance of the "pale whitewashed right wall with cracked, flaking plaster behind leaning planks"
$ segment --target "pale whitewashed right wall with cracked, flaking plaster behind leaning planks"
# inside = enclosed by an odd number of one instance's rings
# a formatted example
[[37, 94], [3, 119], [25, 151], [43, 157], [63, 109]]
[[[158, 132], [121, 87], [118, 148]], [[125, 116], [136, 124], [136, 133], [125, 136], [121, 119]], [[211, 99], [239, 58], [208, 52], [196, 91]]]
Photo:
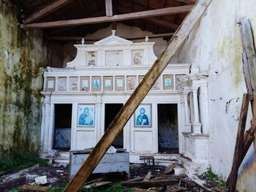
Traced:
[[[212, 0], [178, 52], [179, 63], [197, 64], [201, 72], [209, 72], [209, 161], [214, 172], [224, 177], [230, 172], [241, 99], [246, 93], [237, 25], [242, 16], [249, 18], [256, 37], [255, 0]], [[254, 153], [252, 146], [239, 174], [240, 191], [256, 188]]]

